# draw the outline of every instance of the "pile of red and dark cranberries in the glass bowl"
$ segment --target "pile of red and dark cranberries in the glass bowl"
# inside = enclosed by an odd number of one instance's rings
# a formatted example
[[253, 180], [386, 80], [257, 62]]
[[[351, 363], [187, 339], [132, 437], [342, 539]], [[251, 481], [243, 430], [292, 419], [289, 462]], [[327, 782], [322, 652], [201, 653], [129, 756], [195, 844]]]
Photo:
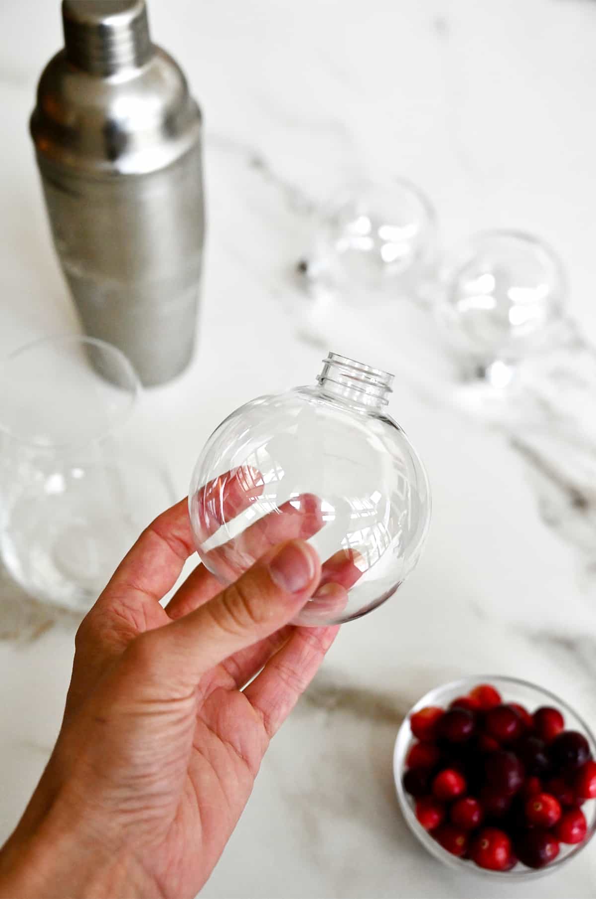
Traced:
[[596, 798], [596, 761], [557, 708], [530, 714], [490, 684], [449, 708], [421, 708], [404, 788], [443, 849], [480, 868], [543, 868], [560, 843], [585, 839], [581, 806]]

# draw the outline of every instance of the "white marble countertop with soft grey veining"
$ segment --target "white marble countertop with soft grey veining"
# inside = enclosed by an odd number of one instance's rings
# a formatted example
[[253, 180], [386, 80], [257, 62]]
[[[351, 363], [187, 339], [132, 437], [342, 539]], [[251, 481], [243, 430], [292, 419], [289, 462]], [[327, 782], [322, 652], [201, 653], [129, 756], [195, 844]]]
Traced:
[[[426, 319], [396, 307], [307, 321], [289, 271], [338, 182], [404, 175], [431, 195], [447, 242], [490, 226], [546, 237], [570, 273], [571, 315], [596, 342], [596, 2], [152, 0], [150, 12], [206, 114], [209, 251], [199, 352], [147, 394], [147, 441], [182, 495], [222, 416], [312, 380], [329, 348], [396, 371], [390, 410], [434, 497], [421, 565], [343, 628], [202, 895], [505, 895], [416, 844], [391, 751], [414, 700], [460, 674], [538, 681], [596, 725], [593, 356], [567, 353], [566, 380], [537, 378], [527, 414], [487, 422], [462, 401]], [[0, 5], [0, 352], [76, 328], [27, 135], [59, 42], [58, 3]], [[4, 579], [0, 840], [57, 732], [74, 628]], [[596, 845], [506, 895], [595, 896]]]

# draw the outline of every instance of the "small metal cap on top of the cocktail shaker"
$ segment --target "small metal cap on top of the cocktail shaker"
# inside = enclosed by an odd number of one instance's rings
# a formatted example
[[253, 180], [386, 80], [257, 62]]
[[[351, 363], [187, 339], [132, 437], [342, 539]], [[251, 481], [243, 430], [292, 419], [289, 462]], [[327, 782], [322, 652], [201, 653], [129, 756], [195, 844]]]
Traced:
[[151, 56], [145, 0], [63, 0], [68, 62], [110, 76]]

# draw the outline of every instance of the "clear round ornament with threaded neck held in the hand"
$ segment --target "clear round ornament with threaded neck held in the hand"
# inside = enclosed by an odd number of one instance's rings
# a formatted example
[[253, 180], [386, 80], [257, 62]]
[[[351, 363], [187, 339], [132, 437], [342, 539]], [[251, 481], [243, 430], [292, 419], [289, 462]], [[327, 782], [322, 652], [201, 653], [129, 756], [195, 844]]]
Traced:
[[431, 508], [423, 465], [385, 411], [393, 376], [330, 353], [317, 380], [229, 415], [189, 495], [199, 556], [222, 584], [272, 545], [309, 539], [324, 563], [297, 619], [311, 626], [392, 596], [418, 561]]

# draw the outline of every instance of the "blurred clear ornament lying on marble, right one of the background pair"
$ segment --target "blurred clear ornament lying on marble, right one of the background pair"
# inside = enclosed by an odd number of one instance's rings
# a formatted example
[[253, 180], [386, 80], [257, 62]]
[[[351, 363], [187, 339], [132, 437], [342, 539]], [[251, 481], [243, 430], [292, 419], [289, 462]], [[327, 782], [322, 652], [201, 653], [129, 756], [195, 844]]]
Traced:
[[441, 264], [437, 311], [467, 375], [501, 388], [520, 361], [556, 343], [565, 294], [565, 271], [547, 244], [484, 231]]

